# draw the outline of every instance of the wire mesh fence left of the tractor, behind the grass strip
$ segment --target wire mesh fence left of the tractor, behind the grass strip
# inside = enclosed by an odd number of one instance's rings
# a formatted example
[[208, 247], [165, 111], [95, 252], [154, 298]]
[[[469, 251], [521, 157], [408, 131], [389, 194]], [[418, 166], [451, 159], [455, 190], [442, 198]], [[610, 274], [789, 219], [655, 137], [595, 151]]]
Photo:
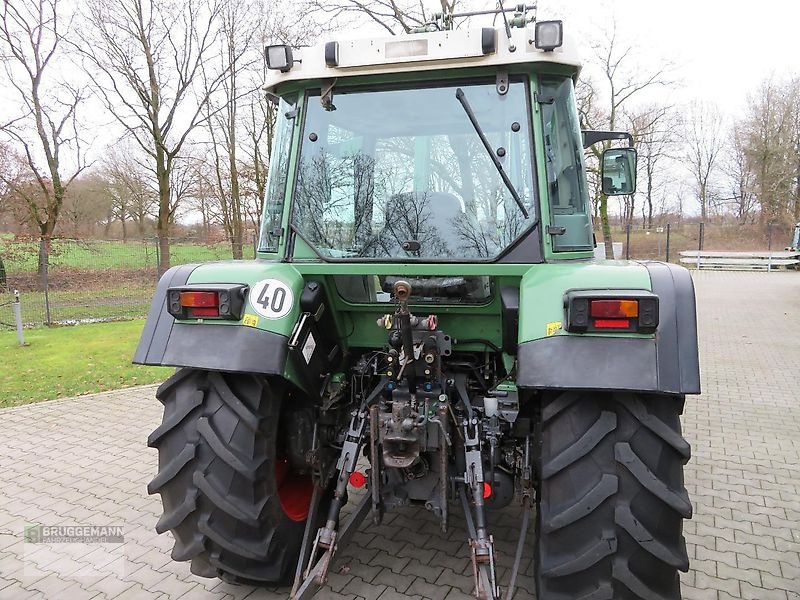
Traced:
[[[155, 239], [74, 240], [50, 243], [46, 268], [39, 240], [0, 239], [0, 327], [13, 327], [15, 290], [26, 327], [144, 317], [159, 277]], [[244, 257], [253, 258], [252, 242]], [[196, 238], [171, 240], [170, 264], [233, 258], [230, 243]]]

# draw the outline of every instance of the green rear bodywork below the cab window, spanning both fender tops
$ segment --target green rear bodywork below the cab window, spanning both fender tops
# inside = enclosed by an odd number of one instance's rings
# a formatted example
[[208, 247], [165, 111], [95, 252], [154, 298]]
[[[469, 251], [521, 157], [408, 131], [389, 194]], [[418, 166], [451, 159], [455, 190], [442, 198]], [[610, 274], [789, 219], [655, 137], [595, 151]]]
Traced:
[[[288, 285], [294, 294], [289, 313], [279, 319], [258, 317], [259, 329], [289, 336], [300, 316], [299, 299], [306, 281], [324, 284], [328, 293], [326, 304], [330, 307], [336, 329], [346, 347], [374, 348], [386, 343], [386, 332], [377, 325], [378, 319], [393, 311], [390, 303], [352, 303], [337, 292], [333, 277], [336, 275], [484, 275], [491, 273], [495, 294], [490, 301], [475, 305], [417, 304], [412, 310], [418, 315], [434, 313], [439, 327], [456, 340], [482, 339], [500, 346], [501, 302], [499, 290], [519, 287], [520, 315], [518, 341], [526, 342], [547, 335], [567, 335], [563, 329], [553, 331], [553, 323], [564, 319], [564, 293], [569, 289], [621, 288], [650, 290], [647, 269], [639, 263], [628, 261], [562, 261], [537, 265], [496, 264], [487, 268], [482, 264], [415, 264], [415, 263], [281, 263], [269, 260], [225, 261], [208, 263], [194, 270], [188, 283], [239, 283], [249, 286], [266, 278], [275, 278]], [[244, 314], [258, 316], [251, 299]], [[231, 323], [237, 325], [241, 323]], [[250, 325], [253, 326], [253, 325]], [[550, 330], [548, 331], [548, 326]], [[624, 334], [617, 334], [624, 335]], [[476, 347], [469, 344], [464, 349]]]

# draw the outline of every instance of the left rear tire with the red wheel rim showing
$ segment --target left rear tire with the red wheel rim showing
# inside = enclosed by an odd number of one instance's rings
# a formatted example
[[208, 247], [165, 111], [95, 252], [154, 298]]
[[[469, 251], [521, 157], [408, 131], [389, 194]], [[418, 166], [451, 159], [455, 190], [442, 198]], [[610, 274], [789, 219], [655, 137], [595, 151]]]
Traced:
[[262, 376], [192, 369], [156, 397], [164, 419], [148, 438], [159, 469], [147, 489], [161, 494], [156, 531], [172, 532], [172, 558], [203, 577], [291, 582], [313, 488], [284, 458], [289, 403]]

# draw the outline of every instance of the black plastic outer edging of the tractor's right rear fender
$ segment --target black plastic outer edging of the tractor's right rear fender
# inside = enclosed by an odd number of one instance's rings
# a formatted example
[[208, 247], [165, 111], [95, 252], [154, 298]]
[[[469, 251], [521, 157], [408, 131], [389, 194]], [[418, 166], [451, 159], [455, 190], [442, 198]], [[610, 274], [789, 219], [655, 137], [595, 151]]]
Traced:
[[681, 266], [642, 263], [659, 298], [652, 337], [553, 335], [518, 347], [517, 386], [699, 394], [694, 283]]

